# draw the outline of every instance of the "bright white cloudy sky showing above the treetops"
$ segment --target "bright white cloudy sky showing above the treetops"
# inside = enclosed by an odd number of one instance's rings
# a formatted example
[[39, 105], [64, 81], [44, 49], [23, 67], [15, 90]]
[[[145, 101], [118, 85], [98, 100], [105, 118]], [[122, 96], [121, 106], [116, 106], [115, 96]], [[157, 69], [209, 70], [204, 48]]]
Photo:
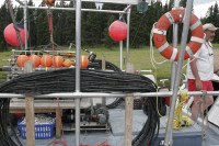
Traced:
[[[0, 0], [0, 4], [3, 3], [4, 0]], [[13, 3], [16, 3], [15, 0], [12, 0]], [[23, 0], [20, 0], [23, 1]], [[33, 2], [35, 3], [35, 5], [38, 5], [43, 0], [33, 0]], [[161, 0], [163, 3], [165, 3], [169, 0]], [[216, 3], [216, 1], [218, 1], [219, 4], [219, 0], [194, 0], [194, 13], [198, 16], [198, 18], [204, 18], [206, 15], [206, 12], [208, 10], [208, 8], [210, 5], [214, 5]]]

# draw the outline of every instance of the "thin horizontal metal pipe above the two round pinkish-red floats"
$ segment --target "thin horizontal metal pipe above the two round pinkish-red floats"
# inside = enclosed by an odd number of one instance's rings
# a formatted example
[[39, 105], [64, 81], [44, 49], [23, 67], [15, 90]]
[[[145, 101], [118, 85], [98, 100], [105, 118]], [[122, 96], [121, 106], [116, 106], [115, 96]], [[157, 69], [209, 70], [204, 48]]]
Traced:
[[[27, 9], [39, 9], [39, 10], [66, 10], [66, 11], [76, 11], [76, 8], [47, 8], [47, 7], [27, 7]], [[97, 9], [81, 9], [84, 12], [103, 12], [103, 13], [126, 13], [124, 11], [115, 10], [97, 10]]]

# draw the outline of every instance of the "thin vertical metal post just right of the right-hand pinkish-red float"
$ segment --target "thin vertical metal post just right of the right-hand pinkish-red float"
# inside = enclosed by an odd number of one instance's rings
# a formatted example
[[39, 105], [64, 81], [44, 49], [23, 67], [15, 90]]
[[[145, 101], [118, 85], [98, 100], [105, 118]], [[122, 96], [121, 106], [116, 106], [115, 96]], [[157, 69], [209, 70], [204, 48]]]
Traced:
[[129, 61], [129, 32], [130, 32], [130, 11], [131, 8], [127, 10], [127, 38], [126, 38], [126, 60], [125, 64]]

